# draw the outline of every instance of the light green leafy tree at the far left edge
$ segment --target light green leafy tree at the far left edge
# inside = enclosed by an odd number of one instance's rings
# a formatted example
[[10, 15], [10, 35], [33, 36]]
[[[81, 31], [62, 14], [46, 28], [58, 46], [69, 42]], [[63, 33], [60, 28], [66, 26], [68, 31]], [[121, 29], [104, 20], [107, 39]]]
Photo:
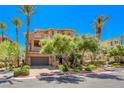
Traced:
[[16, 65], [19, 51], [17, 43], [2, 42], [0, 44], [0, 61], [6, 65], [6, 68], [8, 65]]

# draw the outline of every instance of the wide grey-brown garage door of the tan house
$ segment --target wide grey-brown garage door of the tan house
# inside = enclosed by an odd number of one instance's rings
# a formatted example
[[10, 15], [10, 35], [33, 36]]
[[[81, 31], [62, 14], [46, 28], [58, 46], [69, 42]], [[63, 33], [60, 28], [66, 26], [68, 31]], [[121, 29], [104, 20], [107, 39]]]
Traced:
[[48, 57], [32, 57], [31, 66], [49, 65]]

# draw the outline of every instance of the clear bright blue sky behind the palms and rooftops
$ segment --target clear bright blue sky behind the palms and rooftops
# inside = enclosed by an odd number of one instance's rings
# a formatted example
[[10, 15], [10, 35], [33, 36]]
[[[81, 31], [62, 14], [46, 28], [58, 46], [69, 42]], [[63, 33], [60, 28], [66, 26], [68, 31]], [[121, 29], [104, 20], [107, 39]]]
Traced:
[[[17, 6], [0, 6], [0, 21], [7, 24], [5, 35], [15, 41], [15, 27], [8, 20], [15, 16], [19, 17], [23, 25], [19, 29], [19, 44], [25, 45], [24, 32], [26, 31], [26, 18], [18, 13]], [[102, 30], [101, 40], [118, 37], [124, 34], [124, 6], [91, 6], [91, 5], [68, 5], [55, 6], [39, 5], [35, 9], [38, 12], [31, 16], [31, 32], [36, 28], [47, 29], [74, 29], [79, 34], [95, 34], [92, 29], [92, 22], [98, 15], [111, 16]]]

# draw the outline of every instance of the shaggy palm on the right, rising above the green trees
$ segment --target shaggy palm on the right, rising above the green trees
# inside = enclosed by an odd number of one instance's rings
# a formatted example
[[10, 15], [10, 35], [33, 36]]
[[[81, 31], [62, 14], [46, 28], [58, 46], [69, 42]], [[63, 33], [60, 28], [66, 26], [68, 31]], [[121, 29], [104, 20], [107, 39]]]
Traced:
[[96, 37], [99, 39], [101, 36], [101, 31], [104, 27], [105, 21], [110, 19], [109, 16], [104, 17], [102, 15], [96, 17], [96, 20], [93, 22], [93, 29], [96, 31]]

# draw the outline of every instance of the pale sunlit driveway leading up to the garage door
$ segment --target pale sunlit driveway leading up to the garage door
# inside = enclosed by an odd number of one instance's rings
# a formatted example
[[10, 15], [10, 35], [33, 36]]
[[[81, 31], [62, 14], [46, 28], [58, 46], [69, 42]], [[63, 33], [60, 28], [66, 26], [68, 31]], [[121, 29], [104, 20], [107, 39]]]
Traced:
[[30, 76], [37, 76], [42, 73], [58, 73], [60, 70], [52, 66], [31, 66]]

